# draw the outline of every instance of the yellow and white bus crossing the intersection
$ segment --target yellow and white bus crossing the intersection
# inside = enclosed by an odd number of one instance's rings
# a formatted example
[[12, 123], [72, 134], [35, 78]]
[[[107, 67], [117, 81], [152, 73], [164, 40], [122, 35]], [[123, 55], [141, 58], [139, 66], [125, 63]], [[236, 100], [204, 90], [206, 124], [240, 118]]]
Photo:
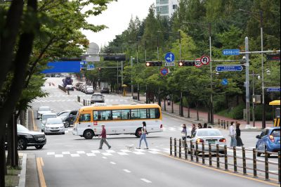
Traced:
[[99, 103], [82, 107], [74, 120], [73, 135], [91, 139], [101, 134], [105, 124], [107, 135], [141, 136], [143, 122], [148, 133], [163, 131], [162, 112], [157, 104], [106, 105]]

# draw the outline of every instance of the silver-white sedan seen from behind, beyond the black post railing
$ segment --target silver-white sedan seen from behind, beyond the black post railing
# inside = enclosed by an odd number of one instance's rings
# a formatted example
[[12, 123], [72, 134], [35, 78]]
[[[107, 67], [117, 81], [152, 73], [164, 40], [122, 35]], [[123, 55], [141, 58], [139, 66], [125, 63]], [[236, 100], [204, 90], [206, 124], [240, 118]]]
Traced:
[[[196, 131], [191, 134], [191, 136], [188, 136], [192, 142], [198, 143], [198, 150], [202, 150], [202, 143], [206, 144], [204, 146], [204, 150], [208, 151], [209, 146], [207, 146], [209, 143], [216, 145], [219, 145], [219, 152], [224, 153], [223, 146], [226, 146], [226, 138], [221, 134], [221, 131], [218, 129], [196, 129]], [[212, 146], [211, 151], [216, 151], [216, 147]]]

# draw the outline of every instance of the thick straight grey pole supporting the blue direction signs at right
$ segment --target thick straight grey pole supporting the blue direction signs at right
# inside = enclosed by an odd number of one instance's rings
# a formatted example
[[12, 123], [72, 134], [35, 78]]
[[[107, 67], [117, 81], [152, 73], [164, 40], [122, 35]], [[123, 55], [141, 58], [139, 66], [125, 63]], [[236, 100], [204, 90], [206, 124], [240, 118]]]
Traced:
[[[245, 51], [249, 51], [249, 39], [245, 37]], [[247, 124], [250, 124], [250, 91], [249, 91], [249, 54], [246, 54], [246, 110], [247, 110]]]

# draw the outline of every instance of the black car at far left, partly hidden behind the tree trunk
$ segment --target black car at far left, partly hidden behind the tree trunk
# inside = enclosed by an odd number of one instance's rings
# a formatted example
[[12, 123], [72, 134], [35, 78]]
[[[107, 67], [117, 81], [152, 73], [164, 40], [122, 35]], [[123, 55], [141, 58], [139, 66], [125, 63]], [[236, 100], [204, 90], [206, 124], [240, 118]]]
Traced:
[[43, 148], [46, 144], [46, 137], [44, 133], [38, 131], [30, 131], [17, 124], [18, 128], [18, 150], [25, 150], [27, 147], [34, 146], [37, 149]]

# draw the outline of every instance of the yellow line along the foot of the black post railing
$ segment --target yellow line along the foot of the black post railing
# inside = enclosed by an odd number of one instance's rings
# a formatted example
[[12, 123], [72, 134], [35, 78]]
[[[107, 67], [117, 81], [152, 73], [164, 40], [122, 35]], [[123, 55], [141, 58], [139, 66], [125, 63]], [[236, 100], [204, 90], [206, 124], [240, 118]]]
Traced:
[[[280, 185], [277, 184], [277, 183], [270, 183], [270, 182], [268, 182], [268, 181], [262, 181], [261, 179], [254, 179], [254, 178], [252, 178], [251, 176], [243, 176], [242, 174], [235, 174], [235, 173], [231, 173], [231, 172], [226, 172], [226, 171], [223, 171], [223, 170], [221, 170], [221, 169], [216, 169], [216, 168], [214, 168], [214, 167], [204, 166], [204, 165], [197, 164], [197, 163], [195, 163], [195, 162], [191, 162], [191, 161], [188, 161], [188, 160], [182, 160], [182, 159], [180, 159], [180, 158], [178, 158], [178, 157], [171, 157], [170, 155], [166, 155], [166, 154], [164, 154], [164, 153], [159, 153], [159, 154], [160, 154], [160, 155], [163, 155], [163, 156], [165, 156], [165, 157], [172, 158], [172, 159], [174, 159], [174, 160], [179, 160], [179, 161], [182, 161], [182, 162], [187, 162], [187, 163], [192, 164], [192, 165], [197, 165], [197, 166], [199, 166], [199, 167], [204, 167], [204, 168], [207, 168], [207, 169], [211, 169], [211, 170], [216, 171], [216, 172], [221, 172], [221, 173], [224, 173], [224, 174], [230, 174], [230, 175], [238, 176], [238, 177], [241, 177], [241, 178], [244, 178], [244, 179], [249, 179], [249, 180], [251, 180], [251, 181], [257, 181], [257, 182], [260, 182], [260, 183], [266, 183], [266, 184], [270, 184], [270, 185], [272, 185], [272, 186], [280, 186]], [[270, 180], [275, 181], [274, 179], [270, 179]]]

